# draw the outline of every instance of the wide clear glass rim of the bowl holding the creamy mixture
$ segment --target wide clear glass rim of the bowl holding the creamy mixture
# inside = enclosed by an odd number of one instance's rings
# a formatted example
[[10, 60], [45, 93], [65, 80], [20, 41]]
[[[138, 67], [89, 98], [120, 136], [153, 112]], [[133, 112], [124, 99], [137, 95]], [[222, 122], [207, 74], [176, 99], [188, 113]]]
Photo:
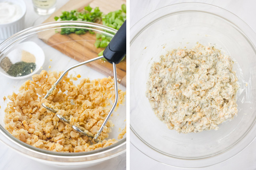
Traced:
[[[204, 9], [207, 9], [207, 11]], [[224, 19], [225, 21], [230, 23], [234, 28], [236, 28], [250, 43], [254, 51], [256, 51], [256, 34], [252, 30], [252, 28], [250, 28], [250, 26], [247, 25], [247, 23], [245, 23], [243, 20], [241, 20], [241, 18], [231, 13], [230, 11], [227, 11], [224, 8], [220, 8], [218, 6], [210, 5], [207, 3], [175, 3], [151, 12], [131, 27], [130, 45], [133, 43], [136, 37], [152, 23], [156, 22], [157, 20], [160, 20], [163, 17], [167, 17], [169, 15], [182, 12], [202, 12], [212, 14], [217, 17], [221, 17], [221, 19]], [[244, 34], [244, 32], [246, 32], [246, 34]], [[175, 156], [168, 156], [164, 153], [161, 153], [161, 151], [157, 150], [156, 148], [148, 144], [146, 141], [144, 141], [142, 138], [140, 138], [140, 136], [136, 133], [131, 124], [130, 129], [132, 133], [130, 133], [130, 141], [134, 145], [134, 147], [136, 147], [146, 156], [163, 164], [174, 167], [186, 168], [207, 167], [230, 159], [236, 154], [240, 153], [242, 150], [244, 150], [244, 148], [246, 148], [256, 137], [256, 133], [253, 133], [253, 131], [256, 130], [255, 123], [256, 120], [254, 120], [254, 122], [251, 124], [251, 126], [247, 130], [247, 133], [245, 133], [244, 136], [242, 136], [241, 139], [239, 139], [239, 141], [237, 141], [231, 147], [227, 148], [226, 150], [223, 150], [220, 153], [216, 153], [215, 155], [201, 158], [178, 158]], [[236, 148], [234, 148], [235, 146]]]

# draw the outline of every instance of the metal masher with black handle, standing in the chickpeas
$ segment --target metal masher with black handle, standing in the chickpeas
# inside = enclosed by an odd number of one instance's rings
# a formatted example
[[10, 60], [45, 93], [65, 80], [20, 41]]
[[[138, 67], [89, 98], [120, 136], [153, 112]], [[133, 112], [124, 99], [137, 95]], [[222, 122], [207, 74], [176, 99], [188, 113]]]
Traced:
[[[52, 88], [49, 89], [49, 91], [47, 92], [47, 94], [44, 96], [44, 99], [47, 99], [51, 94], [52, 91], [56, 88], [56, 86], [58, 85], [58, 83], [61, 81], [61, 79], [64, 77], [65, 74], [67, 74], [68, 71], [72, 70], [73, 68], [79, 67], [81, 65], [87, 64], [89, 62], [93, 62], [97, 59], [102, 59], [103, 57], [110, 63], [113, 64], [113, 77], [114, 77], [114, 86], [115, 86], [115, 101], [111, 107], [111, 110], [109, 111], [108, 115], [106, 116], [104, 122], [102, 123], [101, 127], [99, 128], [99, 132], [96, 133], [94, 136], [92, 133], [90, 133], [88, 130], [85, 130], [82, 127], [77, 127], [77, 126], [72, 126], [74, 130], [76, 130], [77, 132], [81, 133], [84, 136], [88, 136], [89, 138], [92, 139], [93, 142], [99, 142], [98, 141], [98, 137], [100, 135], [100, 133], [103, 130], [103, 127], [106, 125], [106, 123], [108, 122], [109, 117], [111, 116], [111, 113], [113, 112], [113, 110], [116, 107], [117, 104], [117, 99], [118, 99], [118, 88], [117, 88], [117, 77], [116, 77], [116, 64], [118, 64], [126, 55], [126, 20], [125, 22], [122, 24], [122, 26], [119, 28], [119, 30], [116, 32], [116, 34], [114, 35], [114, 37], [112, 38], [112, 40], [109, 42], [108, 46], [105, 48], [103, 55], [100, 57], [96, 57], [94, 59], [89, 59], [87, 61], [84, 62], [80, 62], [79, 64], [73, 65], [70, 68], [67, 68], [67, 70], [65, 70], [61, 76], [58, 78], [58, 80], [52, 85]], [[53, 112], [53, 113], [57, 113], [57, 111], [55, 111], [54, 109], [48, 107], [45, 103], [42, 103], [42, 106], [44, 106], [44, 108], [46, 108], [47, 110]], [[56, 116], [61, 119], [61, 121], [69, 124], [69, 119], [67, 119], [66, 117], [56, 114]]]

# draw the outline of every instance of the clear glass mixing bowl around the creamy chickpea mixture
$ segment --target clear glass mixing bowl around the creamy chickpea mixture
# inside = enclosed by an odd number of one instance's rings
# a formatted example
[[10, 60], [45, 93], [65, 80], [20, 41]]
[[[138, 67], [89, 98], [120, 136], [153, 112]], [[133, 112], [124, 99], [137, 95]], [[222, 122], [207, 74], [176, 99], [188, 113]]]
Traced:
[[[256, 136], [256, 34], [239, 17], [204, 3], [160, 8], [131, 28], [131, 143], [145, 155], [176, 167], [205, 167], [235, 156]], [[177, 133], [154, 115], [145, 96], [150, 67], [173, 48], [196, 42], [215, 46], [235, 60], [238, 115], [218, 130]]]

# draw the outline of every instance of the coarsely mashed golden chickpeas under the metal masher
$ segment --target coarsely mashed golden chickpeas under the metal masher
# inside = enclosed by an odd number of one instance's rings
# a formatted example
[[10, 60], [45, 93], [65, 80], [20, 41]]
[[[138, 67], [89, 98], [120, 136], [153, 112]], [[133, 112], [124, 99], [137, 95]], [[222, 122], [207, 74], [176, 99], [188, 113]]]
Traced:
[[[61, 72], [41, 71], [41, 74], [33, 75], [32, 80], [24, 82], [17, 94], [8, 96], [4, 118], [6, 130], [22, 142], [57, 152], [84, 152], [116, 143], [115, 139], [106, 139], [113, 127], [111, 120], [99, 136], [102, 142], [92, 145], [87, 136], [82, 136], [70, 126], [83, 127], [93, 135], [97, 133], [114, 101], [113, 79], [81, 79], [75, 85], [72, 80], [77, 78], [66, 74], [52, 95], [44, 99], [60, 75]], [[125, 102], [126, 92], [118, 90], [118, 94], [117, 107]], [[48, 103], [58, 114], [70, 118], [70, 125], [45, 109], [42, 103]], [[126, 128], [118, 139], [125, 133]]]

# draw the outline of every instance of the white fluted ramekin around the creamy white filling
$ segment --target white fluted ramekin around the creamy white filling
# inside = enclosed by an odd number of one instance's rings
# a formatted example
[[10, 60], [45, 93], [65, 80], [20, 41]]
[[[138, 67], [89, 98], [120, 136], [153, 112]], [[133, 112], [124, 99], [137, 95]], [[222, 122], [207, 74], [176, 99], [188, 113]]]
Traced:
[[18, 20], [11, 23], [0, 24], [0, 39], [6, 39], [13, 34], [24, 29], [24, 18], [26, 14], [26, 4], [23, 0], [0, 0], [0, 2], [11, 2], [17, 4], [22, 9], [22, 15]]

